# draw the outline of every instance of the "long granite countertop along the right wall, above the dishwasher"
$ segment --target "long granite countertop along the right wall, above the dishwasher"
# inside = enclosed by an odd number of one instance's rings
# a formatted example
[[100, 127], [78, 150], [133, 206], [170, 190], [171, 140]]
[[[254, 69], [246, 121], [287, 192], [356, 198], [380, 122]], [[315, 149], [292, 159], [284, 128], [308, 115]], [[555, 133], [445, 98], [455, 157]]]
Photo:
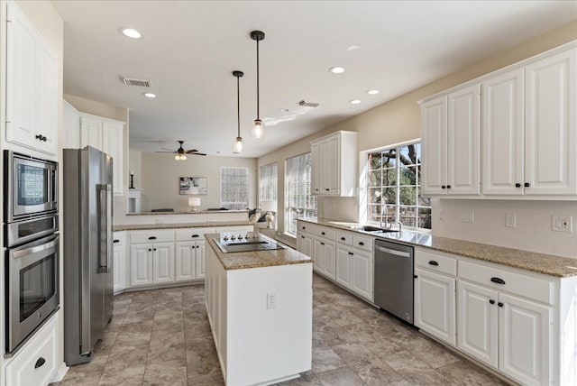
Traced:
[[[324, 219], [299, 218], [312, 224], [330, 226], [336, 229], [371, 234], [353, 229], [358, 224], [341, 223]], [[569, 257], [554, 256], [552, 254], [534, 253], [513, 248], [506, 248], [497, 245], [474, 243], [464, 240], [456, 240], [432, 234], [401, 231], [387, 234], [371, 234], [375, 238], [408, 244], [423, 246], [437, 251], [458, 254], [484, 262], [494, 262], [507, 265], [508, 267], [520, 268], [526, 271], [544, 273], [545, 275], [566, 278], [577, 275], [577, 259]]]

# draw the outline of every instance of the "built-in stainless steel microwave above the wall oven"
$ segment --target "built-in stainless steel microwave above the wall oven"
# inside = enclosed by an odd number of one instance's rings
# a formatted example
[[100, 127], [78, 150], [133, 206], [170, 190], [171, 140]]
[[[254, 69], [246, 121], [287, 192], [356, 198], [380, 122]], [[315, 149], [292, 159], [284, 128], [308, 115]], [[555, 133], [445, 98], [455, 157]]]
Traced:
[[6, 220], [58, 210], [58, 164], [6, 151]]

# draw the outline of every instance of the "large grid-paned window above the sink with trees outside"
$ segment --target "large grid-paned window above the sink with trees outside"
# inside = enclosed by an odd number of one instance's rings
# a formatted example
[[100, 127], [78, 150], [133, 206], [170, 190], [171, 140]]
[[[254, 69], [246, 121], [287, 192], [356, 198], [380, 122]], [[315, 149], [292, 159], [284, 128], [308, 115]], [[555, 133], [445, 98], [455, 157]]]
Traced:
[[431, 229], [431, 199], [421, 197], [421, 144], [368, 156], [368, 220]]

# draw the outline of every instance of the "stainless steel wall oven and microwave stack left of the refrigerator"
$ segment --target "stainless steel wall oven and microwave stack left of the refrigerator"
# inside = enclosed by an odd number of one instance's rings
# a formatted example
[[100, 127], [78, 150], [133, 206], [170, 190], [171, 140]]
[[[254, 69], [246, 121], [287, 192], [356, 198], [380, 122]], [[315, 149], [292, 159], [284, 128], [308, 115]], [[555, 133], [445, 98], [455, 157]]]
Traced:
[[7, 355], [60, 306], [58, 163], [4, 153]]

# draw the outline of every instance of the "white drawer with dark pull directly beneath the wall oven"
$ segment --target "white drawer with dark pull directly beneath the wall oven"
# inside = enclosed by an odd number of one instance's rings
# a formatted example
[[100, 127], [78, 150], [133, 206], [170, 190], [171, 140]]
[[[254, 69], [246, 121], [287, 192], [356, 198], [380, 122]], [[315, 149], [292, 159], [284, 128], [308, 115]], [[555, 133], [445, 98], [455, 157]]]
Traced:
[[43, 326], [6, 365], [6, 384], [45, 385], [56, 372], [56, 319]]

